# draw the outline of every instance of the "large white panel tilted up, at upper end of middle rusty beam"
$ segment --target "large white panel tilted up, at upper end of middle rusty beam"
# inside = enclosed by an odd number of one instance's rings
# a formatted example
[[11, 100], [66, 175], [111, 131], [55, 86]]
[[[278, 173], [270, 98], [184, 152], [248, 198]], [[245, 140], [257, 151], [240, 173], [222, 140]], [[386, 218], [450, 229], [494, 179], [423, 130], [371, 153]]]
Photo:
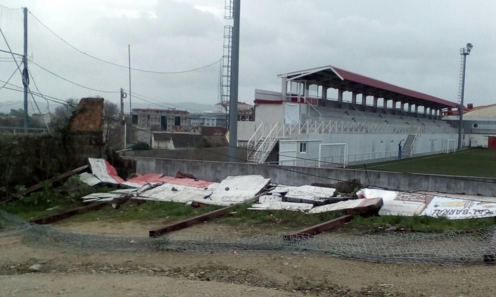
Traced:
[[261, 175], [228, 176], [215, 189], [210, 197], [197, 202], [229, 206], [253, 199], [270, 182]]

